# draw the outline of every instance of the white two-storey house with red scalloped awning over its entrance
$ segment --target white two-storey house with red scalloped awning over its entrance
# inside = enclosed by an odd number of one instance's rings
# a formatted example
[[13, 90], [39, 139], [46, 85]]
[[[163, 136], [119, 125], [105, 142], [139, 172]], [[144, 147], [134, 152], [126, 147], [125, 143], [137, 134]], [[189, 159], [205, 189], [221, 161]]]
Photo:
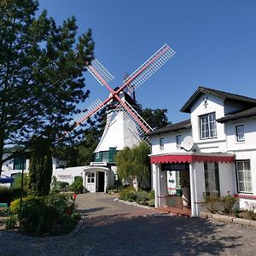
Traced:
[[181, 187], [189, 187], [191, 216], [204, 195], [256, 206], [256, 99], [199, 87], [181, 111], [190, 119], [149, 133], [155, 206], [180, 204]]

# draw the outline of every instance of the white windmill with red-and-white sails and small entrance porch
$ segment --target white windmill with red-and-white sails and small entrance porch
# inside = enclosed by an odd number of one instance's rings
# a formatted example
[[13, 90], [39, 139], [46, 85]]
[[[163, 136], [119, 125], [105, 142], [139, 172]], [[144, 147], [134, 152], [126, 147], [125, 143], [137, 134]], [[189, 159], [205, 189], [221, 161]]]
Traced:
[[113, 80], [113, 75], [99, 61], [94, 59], [90, 66], [87, 66], [89, 72], [100, 84], [108, 88], [110, 94], [103, 102], [97, 99], [85, 113], [80, 113], [75, 119], [76, 128], [78, 128], [100, 109], [108, 107], [105, 130], [95, 150], [95, 162], [84, 168], [84, 187], [86, 189], [106, 192], [108, 186], [113, 184], [116, 173], [116, 166], [113, 162], [116, 151], [136, 145], [142, 140], [148, 141], [145, 134], [152, 131], [152, 128], [132, 107], [132, 105], [136, 105], [133, 92], [174, 54], [175, 51], [170, 46], [163, 45], [141, 67], [138, 67], [126, 78], [124, 84], [115, 90], [108, 85]]

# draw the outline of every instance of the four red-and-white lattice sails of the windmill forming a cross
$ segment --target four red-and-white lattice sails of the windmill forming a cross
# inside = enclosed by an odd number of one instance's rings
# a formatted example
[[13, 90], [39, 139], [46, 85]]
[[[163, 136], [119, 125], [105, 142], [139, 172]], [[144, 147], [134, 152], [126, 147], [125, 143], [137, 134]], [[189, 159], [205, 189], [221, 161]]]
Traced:
[[76, 127], [80, 124], [84, 123], [86, 119], [90, 118], [90, 116], [94, 115], [101, 108], [103, 108], [108, 102], [116, 100], [121, 105], [121, 110], [125, 111], [129, 115], [129, 117], [137, 122], [138, 125], [141, 126], [143, 131], [146, 133], [150, 131], [152, 128], [143, 120], [142, 117], [138, 115], [138, 113], [127, 104], [127, 102], [122, 101], [119, 97], [119, 93], [125, 89], [133, 91], [136, 90], [141, 84], [143, 84], [146, 80], [148, 80], [157, 70], [162, 67], [166, 61], [168, 61], [172, 55], [175, 54], [175, 51], [168, 45], [163, 45], [159, 50], [157, 50], [154, 55], [148, 58], [147, 61], [143, 63], [141, 67], [138, 67], [137, 70], [132, 73], [127, 79], [125, 79], [124, 84], [122, 84], [118, 90], [113, 90], [108, 82], [113, 79], [113, 75], [108, 72], [108, 70], [102, 66], [102, 64], [96, 59], [91, 62], [89, 66], [87, 66], [88, 71], [96, 78], [96, 80], [105, 85], [110, 91], [110, 96], [104, 102], [98, 102], [96, 107], [90, 107], [88, 110], [79, 115], [78, 119], [75, 119]]

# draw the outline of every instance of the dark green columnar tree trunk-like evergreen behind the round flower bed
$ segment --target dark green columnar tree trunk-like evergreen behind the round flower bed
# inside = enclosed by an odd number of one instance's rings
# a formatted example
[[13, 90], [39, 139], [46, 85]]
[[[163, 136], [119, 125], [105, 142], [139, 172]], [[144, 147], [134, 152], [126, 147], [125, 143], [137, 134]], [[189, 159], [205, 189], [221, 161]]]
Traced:
[[28, 172], [28, 194], [49, 195], [52, 176], [51, 142], [42, 137], [32, 137]]

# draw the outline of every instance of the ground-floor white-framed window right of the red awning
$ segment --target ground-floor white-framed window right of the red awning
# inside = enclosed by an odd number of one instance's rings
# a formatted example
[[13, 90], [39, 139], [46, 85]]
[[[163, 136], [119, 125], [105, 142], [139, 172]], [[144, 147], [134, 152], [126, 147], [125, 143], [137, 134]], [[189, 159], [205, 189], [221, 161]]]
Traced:
[[237, 190], [242, 193], [253, 193], [250, 160], [236, 160]]

